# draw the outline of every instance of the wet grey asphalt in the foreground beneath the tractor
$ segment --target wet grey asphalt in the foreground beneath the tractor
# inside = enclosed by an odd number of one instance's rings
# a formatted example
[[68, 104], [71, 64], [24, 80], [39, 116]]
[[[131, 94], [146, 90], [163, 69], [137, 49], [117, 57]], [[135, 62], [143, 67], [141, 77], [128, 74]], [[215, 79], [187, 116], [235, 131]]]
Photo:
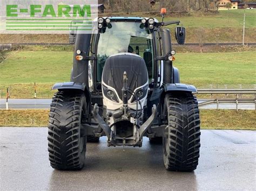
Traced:
[[50, 167], [46, 128], [0, 128], [1, 190], [255, 190], [256, 132], [202, 130], [199, 166], [164, 169], [162, 146], [87, 144], [82, 171]]

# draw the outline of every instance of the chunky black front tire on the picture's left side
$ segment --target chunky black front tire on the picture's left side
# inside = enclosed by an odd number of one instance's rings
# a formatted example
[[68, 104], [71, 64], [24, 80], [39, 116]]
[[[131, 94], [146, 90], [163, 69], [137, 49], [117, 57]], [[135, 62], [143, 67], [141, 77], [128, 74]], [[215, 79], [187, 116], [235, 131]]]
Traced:
[[81, 137], [80, 128], [85, 112], [83, 93], [59, 91], [53, 96], [48, 126], [48, 151], [52, 168], [83, 168], [87, 137]]

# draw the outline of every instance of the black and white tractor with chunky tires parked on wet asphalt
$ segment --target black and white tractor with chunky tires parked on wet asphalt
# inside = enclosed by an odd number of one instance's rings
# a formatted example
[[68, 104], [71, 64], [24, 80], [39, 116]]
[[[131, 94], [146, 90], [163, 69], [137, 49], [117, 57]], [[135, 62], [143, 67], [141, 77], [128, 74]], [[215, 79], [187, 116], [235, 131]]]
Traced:
[[[99, 17], [97, 29], [75, 43], [71, 82], [52, 89], [48, 151], [56, 169], [82, 169], [86, 143], [106, 136], [108, 146], [138, 146], [143, 137], [163, 143], [171, 171], [197, 168], [200, 119], [194, 86], [180, 83], [173, 67], [171, 35], [164, 26], [179, 21]], [[71, 27], [72, 28], [72, 27]], [[185, 28], [176, 27], [179, 44]], [[144, 139], [145, 140], [145, 139]]]

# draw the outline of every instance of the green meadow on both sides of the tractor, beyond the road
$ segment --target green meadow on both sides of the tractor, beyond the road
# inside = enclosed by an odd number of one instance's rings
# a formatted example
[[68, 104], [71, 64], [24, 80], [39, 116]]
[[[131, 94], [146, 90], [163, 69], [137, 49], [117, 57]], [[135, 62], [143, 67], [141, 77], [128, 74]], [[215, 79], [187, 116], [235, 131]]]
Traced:
[[[51, 86], [70, 80], [73, 53], [70, 51], [12, 51], [0, 63], [0, 94], [7, 87], [11, 98], [32, 98], [33, 83], [37, 97], [50, 98]], [[256, 51], [228, 53], [177, 53], [174, 66], [182, 83], [198, 88], [253, 88], [256, 84]], [[217, 85], [218, 84], [218, 85]], [[0, 95], [1, 96], [1, 95]]]

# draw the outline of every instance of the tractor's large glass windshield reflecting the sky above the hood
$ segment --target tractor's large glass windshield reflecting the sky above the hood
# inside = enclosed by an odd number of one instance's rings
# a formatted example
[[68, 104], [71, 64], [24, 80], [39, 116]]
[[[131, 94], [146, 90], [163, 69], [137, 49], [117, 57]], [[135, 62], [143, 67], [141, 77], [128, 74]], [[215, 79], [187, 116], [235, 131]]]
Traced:
[[152, 34], [141, 23], [112, 22], [104, 33], [99, 34], [97, 47], [97, 81], [102, 80], [102, 71], [109, 56], [121, 52], [130, 52], [142, 56], [149, 77], [152, 77], [153, 47]]

